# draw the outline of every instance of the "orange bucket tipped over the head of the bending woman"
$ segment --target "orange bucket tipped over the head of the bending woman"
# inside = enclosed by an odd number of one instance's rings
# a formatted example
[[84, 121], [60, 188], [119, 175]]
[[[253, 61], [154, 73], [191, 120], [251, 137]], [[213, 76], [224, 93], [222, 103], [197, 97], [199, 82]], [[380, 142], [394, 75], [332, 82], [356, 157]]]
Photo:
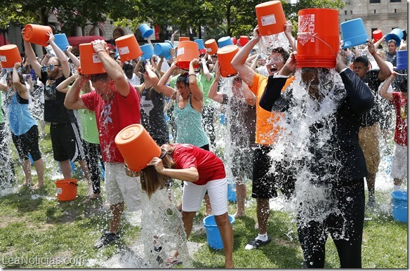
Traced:
[[141, 124], [131, 124], [119, 131], [115, 144], [131, 171], [140, 171], [153, 157], [161, 156], [161, 148]]

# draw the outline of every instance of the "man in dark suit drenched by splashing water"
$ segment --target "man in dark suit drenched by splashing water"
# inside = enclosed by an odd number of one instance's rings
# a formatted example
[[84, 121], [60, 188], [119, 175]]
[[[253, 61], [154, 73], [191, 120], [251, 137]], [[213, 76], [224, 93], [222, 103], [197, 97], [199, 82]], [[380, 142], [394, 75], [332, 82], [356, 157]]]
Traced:
[[[296, 225], [303, 267], [324, 268], [330, 233], [340, 267], [361, 268], [366, 164], [358, 140], [359, 117], [373, 106], [373, 93], [348, 68], [343, 50], [334, 70], [296, 69], [296, 62], [294, 52], [269, 78], [259, 104], [286, 113], [289, 133], [279, 136], [272, 154], [275, 161], [280, 153], [291, 155], [298, 168]], [[281, 93], [292, 73], [295, 81]]]

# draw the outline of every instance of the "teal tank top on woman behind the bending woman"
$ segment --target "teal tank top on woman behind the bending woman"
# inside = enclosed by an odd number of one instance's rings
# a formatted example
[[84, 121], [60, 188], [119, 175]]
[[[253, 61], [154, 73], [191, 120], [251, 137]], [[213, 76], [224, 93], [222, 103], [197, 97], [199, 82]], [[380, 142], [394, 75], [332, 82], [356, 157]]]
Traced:
[[192, 108], [191, 98], [183, 109], [179, 109], [177, 102], [174, 102], [173, 115], [177, 128], [176, 143], [187, 143], [197, 147], [209, 144], [209, 138], [202, 126], [202, 114]]

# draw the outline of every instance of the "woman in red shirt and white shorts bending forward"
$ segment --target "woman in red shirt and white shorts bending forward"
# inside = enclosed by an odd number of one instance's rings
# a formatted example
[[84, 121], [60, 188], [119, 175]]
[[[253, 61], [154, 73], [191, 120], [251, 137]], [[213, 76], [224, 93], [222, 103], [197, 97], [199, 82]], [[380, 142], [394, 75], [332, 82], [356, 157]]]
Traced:
[[161, 157], [152, 158], [140, 171], [143, 191], [151, 197], [158, 189], [166, 187], [170, 178], [184, 181], [183, 224], [188, 238], [194, 217], [208, 190], [225, 251], [225, 268], [234, 268], [234, 234], [227, 213], [227, 180], [223, 161], [212, 152], [190, 144], [166, 144], [161, 148]]

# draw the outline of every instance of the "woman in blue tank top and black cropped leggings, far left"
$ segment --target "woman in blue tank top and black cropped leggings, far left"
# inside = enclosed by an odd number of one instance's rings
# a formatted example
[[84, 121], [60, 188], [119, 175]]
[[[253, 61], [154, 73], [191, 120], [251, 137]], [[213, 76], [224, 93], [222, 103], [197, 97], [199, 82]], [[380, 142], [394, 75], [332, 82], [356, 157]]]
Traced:
[[29, 112], [29, 92], [22, 74], [18, 72], [20, 67], [20, 62], [14, 64], [13, 71], [7, 74], [7, 85], [0, 83], [0, 91], [6, 93], [5, 104], [11, 138], [25, 174], [25, 182], [22, 185], [31, 185], [32, 183], [32, 164], [29, 159], [29, 154], [31, 154], [38, 181], [30, 188], [35, 190], [44, 185], [44, 161], [41, 158], [39, 146], [39, 128], [37, 121]]

